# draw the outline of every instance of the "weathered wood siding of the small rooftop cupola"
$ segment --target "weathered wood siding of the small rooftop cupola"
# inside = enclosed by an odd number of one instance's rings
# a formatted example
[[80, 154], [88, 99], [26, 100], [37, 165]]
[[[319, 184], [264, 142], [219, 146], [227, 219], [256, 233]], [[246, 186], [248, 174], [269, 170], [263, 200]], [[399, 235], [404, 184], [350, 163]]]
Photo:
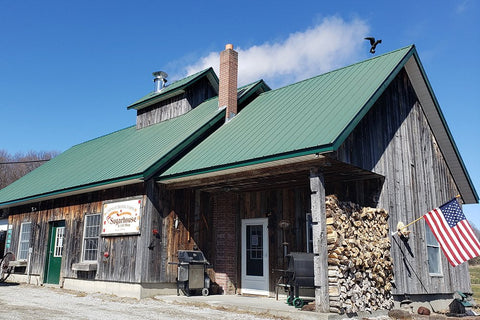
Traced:
[[185, 114], [215, 94], [210, 82], [203, 78], [182, 94], [138, 110], [137, 129]]

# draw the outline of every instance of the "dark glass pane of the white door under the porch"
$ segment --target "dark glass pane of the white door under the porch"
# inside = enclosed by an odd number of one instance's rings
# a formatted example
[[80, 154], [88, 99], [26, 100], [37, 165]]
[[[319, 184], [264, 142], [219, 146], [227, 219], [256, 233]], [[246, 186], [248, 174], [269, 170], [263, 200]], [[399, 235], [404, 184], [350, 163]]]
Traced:
[[263, 276], [263, 226], [250, 225], [246, 228], [247, 275]]

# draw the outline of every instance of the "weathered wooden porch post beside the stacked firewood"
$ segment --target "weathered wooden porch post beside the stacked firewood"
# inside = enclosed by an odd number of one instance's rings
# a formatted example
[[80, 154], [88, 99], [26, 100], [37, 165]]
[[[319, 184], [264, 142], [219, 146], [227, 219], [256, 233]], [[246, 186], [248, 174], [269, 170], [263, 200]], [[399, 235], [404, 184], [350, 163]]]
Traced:
[[310, 191], [313, 224], [315, 307], [317, 312], [329, 312], [325, 181], [323, 174], [317, 168], [310, 169]]

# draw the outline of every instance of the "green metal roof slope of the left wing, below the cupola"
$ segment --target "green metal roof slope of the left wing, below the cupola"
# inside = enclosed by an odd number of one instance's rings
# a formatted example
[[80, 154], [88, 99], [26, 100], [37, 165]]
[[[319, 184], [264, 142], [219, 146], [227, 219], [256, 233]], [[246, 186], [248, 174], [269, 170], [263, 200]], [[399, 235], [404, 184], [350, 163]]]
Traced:
[[78, 144], [0, 190], [0, 207], [77, 189], [143, 179], [224, 118], [218, 99], [137, 130], [135, 126]]

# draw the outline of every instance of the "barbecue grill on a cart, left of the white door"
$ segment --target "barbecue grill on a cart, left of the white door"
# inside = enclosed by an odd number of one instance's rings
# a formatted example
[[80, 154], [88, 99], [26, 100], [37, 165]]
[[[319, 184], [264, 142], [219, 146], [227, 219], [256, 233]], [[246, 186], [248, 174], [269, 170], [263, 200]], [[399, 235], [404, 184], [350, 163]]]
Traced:
[[207, 268], [211, 268], [201, 251], [178, 250], [178, 262], [170, 262], [177, 267], [177, 295], [180, 290], [190, 296], [193, 291], [201, 290], [202, 295], [210, 293], [210, 278], [207, 275]]

